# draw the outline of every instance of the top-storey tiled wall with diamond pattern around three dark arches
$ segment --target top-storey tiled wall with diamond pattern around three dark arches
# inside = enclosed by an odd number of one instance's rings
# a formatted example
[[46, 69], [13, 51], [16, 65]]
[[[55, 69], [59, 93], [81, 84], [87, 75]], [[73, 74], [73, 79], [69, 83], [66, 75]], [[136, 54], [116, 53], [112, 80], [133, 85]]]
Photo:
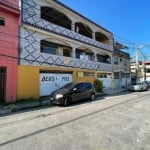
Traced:
[[[111, 52], [113, 51], [112, 33], [93, 25], [91, 22], [89, 22], [86, 19], [84, 19], [83, 17], [73, 13], [69, 9], [66, 9], [64, 6], [57, 4], [55, 1], [45, 2], [42, 0], [36, 0], [36, 1], [35, 0], [32, 0], [32, 1], [22, 0], [22, 2], [23, 2], [23, 5], [22, 5], [22, 13], [23, 13], [22, 21], [23, 22], [30, 24], [32, 26], [35, 26], [35, 27], [42, 28], [43, 30], [45, 30], [47, 32], [53, 32], [55, 34], [59, 34], [61, 36], [65, 36], [70, 39], [81, 41], [83, 43], [93, 45], [93, 46], [96, 46], [96, 47], [99, 47], [99, 48], [102, 48], [102, 49], [105, 49], [105, 50], [108, 50]], [[74, 31], [65, 29], [63, 27], [57, 26], [53, 23], [50, 23], [50, 22], [42, 19], [41, 14], [40, 14], [40, 9], [42, 6], [54, 7], [55, 9], [58, 9], [59, 11], [62, 10], [62, 13], [66, 14], [69, 18], [71, 18], [73, 23], [75, 23], [74, 20], [76, 20], [76, 22], [83, 22], [83, 23], [86, 23], [86, 24], [92, 26], [93, 32], [99, 30], [100, 32], [106, 34], [110, 39], [110, 44], [106, 45], [106, 44], [97, 42], [94, 39], [90, 39], [88, 37], [85, 37], [81, 34], [74, 32]]]

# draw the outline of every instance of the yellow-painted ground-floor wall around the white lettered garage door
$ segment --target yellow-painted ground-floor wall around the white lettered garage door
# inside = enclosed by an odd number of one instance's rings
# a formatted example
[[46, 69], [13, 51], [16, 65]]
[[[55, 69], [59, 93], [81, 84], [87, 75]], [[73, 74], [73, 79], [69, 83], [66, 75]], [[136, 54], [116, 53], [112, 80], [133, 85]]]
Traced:
[[[66, 68], [59, 68], [58, 67], [40, 67], [40, 66], [18, 66], [18, 73], [17, 73], [17, 100], [21, 99], [38, 99], [39, 90], [40, 90], [40, 71], [44, 72], [70, 72], [72, 73], [74, 81], [89, 81], [91, 83], [94, 82], [96, 79], [96, 72], [88, 71], [83, 69], [66, 69]], [[92, 72], [94, 76], [78, 76], [78, 72]]]

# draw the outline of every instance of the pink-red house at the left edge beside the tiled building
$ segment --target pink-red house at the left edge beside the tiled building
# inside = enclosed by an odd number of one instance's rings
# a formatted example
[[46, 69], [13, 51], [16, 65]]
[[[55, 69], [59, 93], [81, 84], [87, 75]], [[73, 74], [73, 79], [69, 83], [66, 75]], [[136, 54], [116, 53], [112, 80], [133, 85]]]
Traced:
[[0, 103], [16, 100], [19, 2], [0, 1]]

